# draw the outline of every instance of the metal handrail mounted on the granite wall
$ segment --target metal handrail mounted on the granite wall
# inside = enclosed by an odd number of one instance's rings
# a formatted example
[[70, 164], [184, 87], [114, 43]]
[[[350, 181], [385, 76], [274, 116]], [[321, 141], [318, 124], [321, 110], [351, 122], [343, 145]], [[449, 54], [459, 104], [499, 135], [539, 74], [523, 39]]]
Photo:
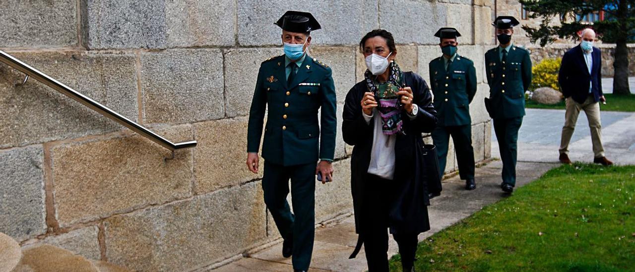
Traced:
[[23, 72], [24, 74], [27, 75], [27, 78], [21, 84], [24, 84], [29, 77], [34, 78], [37, 81], [44, 83], [44, 85], [47, 85], [57, 90], [58, 92], [63, 93], [67, 97], [70, 97], [71, 99], [76, 100], [77, 102], [85, 105], [86, 107], [89, 107], [93, 111], [99, 112], [100, 114], [106, 116], [107, 118], [110, 118], [113, 121], [116, 121], [117, 123], [123, 126], [126, 126], [126, 128], [130, 128], [134, 132], [139, 133], [140, 135], [146, 137], [147, 139], [152, 140], [152, 142], [156, 142], [157, 144], [167, 149], [170, 149], [171, 151], [196, 146], [196, 140], [190, 140], [189, 142], [178, 142], [174, 144], [173, 142], [170, 142], [169, 140], [157, 135], [157, 133], [154, 133], [148, 130], [147, 128], [145, 128], [144, 126], [137, 124], [135, 121], [132, 121], [131, 119], [128, 119], [125, 116], [122, 116], [121, 114], [115, 111], [112, 111], [112, 109], [109, 109], [105, 105], [102, 105], [99, 102], [92, 100], [89, 97], [86, 97], [86, 95], [83, 95], [77, 92], [76, 90], [73, 90], [69, 86], [66, 86], [60, 83], [60, 81], [57, 81], [56, 79], [51, 78], [50, 76], [44, 74], [43, 72], [40, 72], [37, 69], [34, 69], [33, 67], [30, 67], [28, 64], [25, 64], [24, 62], [18, 60], [17, 58], [9, 55], [8, 53], [2, 50], [0, 50], [0, 62], [4, 62], [4, 64], [7, 64], [13, 67], [14, 69], [20, 72]]

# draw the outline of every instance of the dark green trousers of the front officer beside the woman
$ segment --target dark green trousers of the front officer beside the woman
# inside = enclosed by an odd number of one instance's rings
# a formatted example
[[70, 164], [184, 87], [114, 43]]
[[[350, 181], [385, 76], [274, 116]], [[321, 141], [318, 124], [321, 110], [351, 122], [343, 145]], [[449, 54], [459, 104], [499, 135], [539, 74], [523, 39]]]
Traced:
[[[262, 189], [265, 204], [284, 239], [293, 239], [293, 269], [308, 270], [315, 237], [316, 163], [284, 167], [265, 160]], [[291, 179], [291, 202], [286, 196]], [[295, 215], [294, 215], [295, 214]]]

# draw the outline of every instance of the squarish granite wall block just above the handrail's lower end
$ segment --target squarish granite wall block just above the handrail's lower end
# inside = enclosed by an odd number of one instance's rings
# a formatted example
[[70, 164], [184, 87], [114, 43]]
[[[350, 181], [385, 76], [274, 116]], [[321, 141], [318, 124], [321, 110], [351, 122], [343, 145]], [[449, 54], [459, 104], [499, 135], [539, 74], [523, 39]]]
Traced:
[[220, 50], [166, 50], [141, 56], [146, 123], [190, 123], [225, 116]]

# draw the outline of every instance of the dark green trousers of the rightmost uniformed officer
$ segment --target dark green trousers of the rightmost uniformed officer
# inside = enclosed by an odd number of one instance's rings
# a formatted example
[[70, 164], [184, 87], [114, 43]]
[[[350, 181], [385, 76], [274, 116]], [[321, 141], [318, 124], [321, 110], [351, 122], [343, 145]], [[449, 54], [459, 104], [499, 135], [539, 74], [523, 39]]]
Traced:
[[500, 160], [503, 161], [502, 178], [504, 184], [516, 186], [516, 158], [518, 158], [518, 130], [523, 117], [495, 118], [494, 132], [498, 140]]

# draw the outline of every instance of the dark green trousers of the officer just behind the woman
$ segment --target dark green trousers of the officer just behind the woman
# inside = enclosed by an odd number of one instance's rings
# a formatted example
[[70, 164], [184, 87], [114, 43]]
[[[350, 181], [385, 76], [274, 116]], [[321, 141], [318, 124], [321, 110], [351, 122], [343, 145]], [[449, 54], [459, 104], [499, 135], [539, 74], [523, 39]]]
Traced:
[[474, 147], [472, 147], [472, 126], [437, 126], [432, 131], [432, 140], [437, 149], [441, 177], [445, 173], [450, 136], [457, 154], [458, 175], [461, 179], [474, 179]]

